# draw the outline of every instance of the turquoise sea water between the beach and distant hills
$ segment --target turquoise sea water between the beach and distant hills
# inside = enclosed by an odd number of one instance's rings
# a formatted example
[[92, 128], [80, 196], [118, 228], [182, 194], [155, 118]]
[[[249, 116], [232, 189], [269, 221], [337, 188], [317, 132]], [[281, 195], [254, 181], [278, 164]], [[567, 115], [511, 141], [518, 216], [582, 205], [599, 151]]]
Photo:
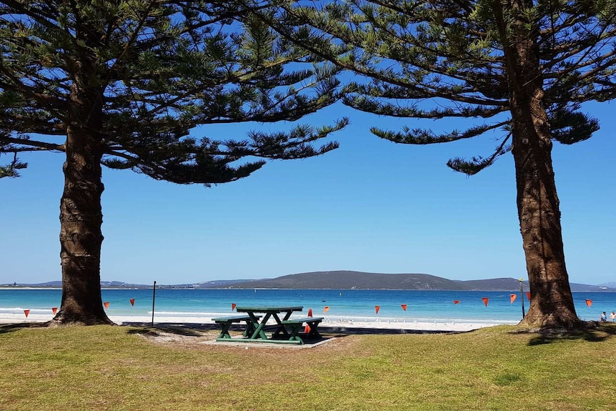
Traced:
[[[511, 303], [510, 294], [517, 298]], [[152, 289], [103, 289], [109, 316], [152, 315]], [[487, 306], [482, 298], [488, 298]], [[337, 321], [499, 322], [515, 324], [522, 318], [520, 292], [417, 291], [364, 289], [157, 289], [156, 322], [171, 317], [216, 317], [237, 305], [301, 305], [314, 316]], [[574, 292], [577, 315], [599, 320], [600, 313], [616, 310], [616, 292]], [[134, 299], [131, 305], [130, 299]], [[586, 300], [592, 300], [592, 306]], [[454, 304], [459, 300], [459, 304]], [[50, 314], [59, 307], [60, 289], [0, 289], [0, 315]], [[524, 297], [525, 309], [529, 302]], [[407, 310], [402, 310], [407, 304]], [[379, 306], [376, 313], [375, 307]], [[324, 307], [329, 307], [324, 312]]]

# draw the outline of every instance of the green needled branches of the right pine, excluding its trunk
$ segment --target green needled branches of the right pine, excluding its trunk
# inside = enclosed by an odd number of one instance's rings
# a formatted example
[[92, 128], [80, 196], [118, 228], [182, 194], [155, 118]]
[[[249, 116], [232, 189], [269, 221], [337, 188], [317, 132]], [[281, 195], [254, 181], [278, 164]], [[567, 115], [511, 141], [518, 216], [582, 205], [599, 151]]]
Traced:
[[[498, 6], [500, 4], [500, 6]], [[452, 159], [475, 174], [510, 151], [512, 66], [505, 49], [520, 33], [536, 39], [552, 139], [573, 144], [598, 122], [580, 112], [585, 101], [616, 96], [616, 1], [527, 0], [286, 1], [280, 34], [339, 68], [363, 74], [344, 103], [389, 117], [475, 117], [480, 125], [434, 134], [405, 128], [372, 133], [392, 142], [432, 144], [496, 131], [490, 155]], [[520, 5], [519, 7], [517, 5]], [[505, 9], [505, 14], [497, 13]], [[502, 24], [500, 24], [502, 23]], [[495, 133], [490, 133], [490, 139]]]

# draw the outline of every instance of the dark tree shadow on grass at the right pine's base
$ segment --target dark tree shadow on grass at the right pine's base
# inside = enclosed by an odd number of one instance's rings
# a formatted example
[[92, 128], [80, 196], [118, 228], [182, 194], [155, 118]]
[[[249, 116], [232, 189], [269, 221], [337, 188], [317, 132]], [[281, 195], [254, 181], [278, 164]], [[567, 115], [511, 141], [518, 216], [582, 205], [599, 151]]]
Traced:
[[517, 330], [512, 334], [533, 334], [528, 345], [552, 344], [570, 340], [585, 340], [588, 342], [601, 342], [616, 335], [616, 325], [596, 321], [584, 322], [582, 327], [575, 330], [565, 329], [542, 329], [542, 330]]

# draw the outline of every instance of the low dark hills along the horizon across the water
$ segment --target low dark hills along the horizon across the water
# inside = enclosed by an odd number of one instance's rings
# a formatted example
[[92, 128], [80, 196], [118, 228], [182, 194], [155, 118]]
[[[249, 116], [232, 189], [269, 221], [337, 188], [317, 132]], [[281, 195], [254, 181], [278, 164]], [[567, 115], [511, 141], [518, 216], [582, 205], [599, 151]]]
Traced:
[[[614, 284], [610, 287], [608, 284]], [[571, 283], [574, 292], [616, 292], [616, 283], [588, 285]], [[6, 284], [13, 286], [13, 284]], [[62, 282], [16, 284], [17, 287], [62, 287]], [[101, 281], [104, 288], [151, 288], [152, 284], [128, 284], [119, 281]], [[429, 274], [382, 274], [358, 271], [302, 272], [267, 279], [221, 279], [194, 284], [157, 284], [159, 288], [192, 289], [434, 289], [459, 291], [519, 291], [520, 280], [515, 278], [471, 279], [467, 281], [446, 279]], [[525, 291], [528, 283], [524, 282]]]

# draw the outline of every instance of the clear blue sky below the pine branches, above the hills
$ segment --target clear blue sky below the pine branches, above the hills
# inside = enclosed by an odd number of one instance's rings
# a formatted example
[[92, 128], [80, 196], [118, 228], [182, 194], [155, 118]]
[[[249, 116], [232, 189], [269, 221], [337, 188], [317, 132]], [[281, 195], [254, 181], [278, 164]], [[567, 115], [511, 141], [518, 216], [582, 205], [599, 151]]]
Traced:
[[[555, 143], [553, 151], [572, 282], [616, 281], [613, 109], [587, 104], [584, 111], [600, 119], [600, 131], [570, 147]], [[332, 135], [341, 144], [334, 152], [270, 162], [212, 188], [104, 169], [101, 279], [178, 284], [336, 269], [527, 279], [510, 154], [466, 177], [445, 162], [490, 154], [497, 143], [489, 135], [408, 146], [368, 132], [373, 125], [448, 131], [472, 120], [411, 122], [337, 104], [301, 122], [342, 116], [352, 124]], [[195, 135], [239, 138], [249, 129], [287, 127], [224, 125]], [[0, 282], [59, 280], [63, 154], [22, 159], [29, 168], [21, 178], [0, 179]]]

